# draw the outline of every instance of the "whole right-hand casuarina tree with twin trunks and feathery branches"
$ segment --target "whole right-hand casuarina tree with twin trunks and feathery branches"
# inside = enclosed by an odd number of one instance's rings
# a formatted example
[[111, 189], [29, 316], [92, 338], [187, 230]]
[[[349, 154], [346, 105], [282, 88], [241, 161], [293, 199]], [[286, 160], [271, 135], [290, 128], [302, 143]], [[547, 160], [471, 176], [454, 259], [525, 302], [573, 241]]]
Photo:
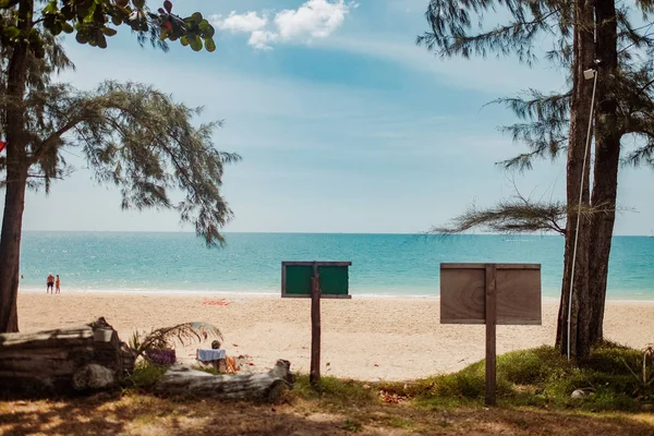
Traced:
[[[496, 10], [505, 13], [495, 14]], [[528, 64], [553, 62], [565, 72], [567, 92], [529, 89], [497, 102], [507, 105], [520, 119], [502, 130], [529, 148], [500, 164], [507, 169], [526, 170], [534, 159], [556, 160], [567, 153], [566, 204], [519, 198], [486, 210], [469, 210], [451, 227], [436, 230], [482, 227], [565, 234], [556, 342], [564, 353], [570, 350], [578, 358], [588, 355], [603, 339], [620, 161], [654, 164], [653, 11], [650, 0], [618, 5], [615, 0], [432, 0], [426, 11], [431, 31], [417, 37], [419, 45], [445, 58], [516, 56]], [[496, 24], [488, 23], [487, 16], [509, 19]], [[479, 28], [473, 23], [479, 23]], [[549, 50], [542, 49], [544, 40], [553, 41]], [[584, 77], [589, 69], [597, 71], [593, 120], [593, 81]], [[594, 153], [588, 156], [594, 155], [593, 160], [584, 159], [590, 123], [595, 141]], [[633, 136], [637, 141], [629, 143], [635, 146], [625, 149], [625, 140]]]

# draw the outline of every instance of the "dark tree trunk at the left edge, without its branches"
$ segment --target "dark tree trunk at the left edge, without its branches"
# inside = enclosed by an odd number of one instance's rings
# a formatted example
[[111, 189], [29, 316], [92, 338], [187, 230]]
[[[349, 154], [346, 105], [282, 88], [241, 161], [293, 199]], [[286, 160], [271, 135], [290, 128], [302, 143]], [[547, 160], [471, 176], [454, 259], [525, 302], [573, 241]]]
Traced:
[[[27, 35], [32, 28], [33, 0], [21, 0], [17, 27]], [[27, 184], [25, 135], [25, 77], [27, 41], [15, 45], [8, 66], [4, 131], [7, 132], [7, 192], [0, 233], [0, 332], [19, 331], [16, 299], [21, 265], [21, 232]]]

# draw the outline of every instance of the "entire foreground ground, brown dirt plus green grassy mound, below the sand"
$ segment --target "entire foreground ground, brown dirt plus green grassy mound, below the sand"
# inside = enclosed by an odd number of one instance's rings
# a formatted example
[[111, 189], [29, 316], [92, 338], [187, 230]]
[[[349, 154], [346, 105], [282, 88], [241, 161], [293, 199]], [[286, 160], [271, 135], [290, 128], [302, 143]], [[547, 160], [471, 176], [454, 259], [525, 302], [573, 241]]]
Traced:
[[[453, 374], [402, 383], [301, 374], [276, 403], [218, 402], [150, 393], [166, 366], [142, 363], [122, 389], [84, 399], [0, 402], [0, 431], [78, 434], [652, 434], [654, 389], [628, 365], [651, 354], [593, 348], [580, 366], [553, 347], [498, 359], [498, 407], [484, 408], [484, 362]], [[572, 398], [572, 392], [584, 393]]]

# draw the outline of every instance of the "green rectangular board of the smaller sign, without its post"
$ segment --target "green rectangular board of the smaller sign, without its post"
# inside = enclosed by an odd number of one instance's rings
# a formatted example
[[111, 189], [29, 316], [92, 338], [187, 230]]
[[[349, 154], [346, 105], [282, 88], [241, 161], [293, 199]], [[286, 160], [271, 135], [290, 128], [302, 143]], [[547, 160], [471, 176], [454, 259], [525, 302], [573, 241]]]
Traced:
[[324, 299], [351, 299], [349, 266], [351, 262], [282, 262], [281, 296], [311, 298], [311, 279], [317, 265], [320, 296]]

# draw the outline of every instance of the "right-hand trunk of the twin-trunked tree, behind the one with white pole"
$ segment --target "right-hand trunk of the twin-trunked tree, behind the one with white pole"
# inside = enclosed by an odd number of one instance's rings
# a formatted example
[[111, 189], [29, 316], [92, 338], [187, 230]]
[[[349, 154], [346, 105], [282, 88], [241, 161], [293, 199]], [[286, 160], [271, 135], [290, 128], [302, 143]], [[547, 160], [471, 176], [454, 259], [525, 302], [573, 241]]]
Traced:
[[615, 0], [596, 0], [597, 109], [595, 116], [595, 168], [591, 204], [601, 211], [591, 217], [593, 249], [590, 259], [591, 342], [603, 339], [604, 305], [608, 259], [616, 219], [618, 168], [620, 164], [620, 137], [618, 105], [611, 92], [618, 74], [618, 36]]

